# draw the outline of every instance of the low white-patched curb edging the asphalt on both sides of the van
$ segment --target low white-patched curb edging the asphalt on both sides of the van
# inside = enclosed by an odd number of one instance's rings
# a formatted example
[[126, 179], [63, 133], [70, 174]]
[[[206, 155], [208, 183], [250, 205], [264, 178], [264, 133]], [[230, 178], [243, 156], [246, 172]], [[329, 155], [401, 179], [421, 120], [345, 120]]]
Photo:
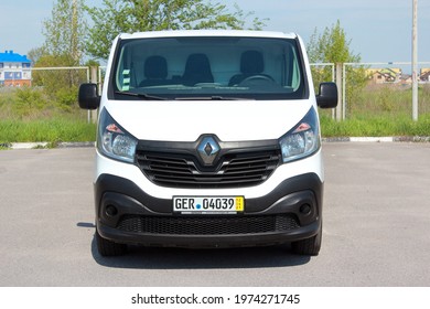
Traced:
[[[401, 136], [401, 137], [325, 137], [323, 142], [430, 142], [430, 136]], [[4, 142], [0, 148], [6, 149], [45, 149], [45, 148], [90, 148], [95, 141], [58, 142], [51, 145], [44, 142]]]

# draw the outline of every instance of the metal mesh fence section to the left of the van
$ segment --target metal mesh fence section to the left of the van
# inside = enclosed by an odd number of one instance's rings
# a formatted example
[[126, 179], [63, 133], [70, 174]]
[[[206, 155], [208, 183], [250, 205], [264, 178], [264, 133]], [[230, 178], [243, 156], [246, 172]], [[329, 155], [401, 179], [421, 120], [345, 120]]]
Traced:
[[77, 92], [82, 83], [89, 81], [87, 66], [3, 67], [0, 113], [2, 117], [40, 117], [61, 111], [84, 118], [87, 113], [77, 108]]

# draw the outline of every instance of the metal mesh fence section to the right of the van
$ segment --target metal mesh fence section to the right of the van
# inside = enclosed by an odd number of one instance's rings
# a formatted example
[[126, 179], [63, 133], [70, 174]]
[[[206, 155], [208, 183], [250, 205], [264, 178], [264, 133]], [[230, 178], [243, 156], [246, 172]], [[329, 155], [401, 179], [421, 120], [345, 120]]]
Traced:
[[[384, 115], [412, 118], [409, 62], [312, 64], [311, 70], [315, 89], [321, 82], [336, 82], [340, 100], [331, 115], [337, 120]], [[418, 110], [430, 114], [430, 62], [420, 62], [418, 72]]]

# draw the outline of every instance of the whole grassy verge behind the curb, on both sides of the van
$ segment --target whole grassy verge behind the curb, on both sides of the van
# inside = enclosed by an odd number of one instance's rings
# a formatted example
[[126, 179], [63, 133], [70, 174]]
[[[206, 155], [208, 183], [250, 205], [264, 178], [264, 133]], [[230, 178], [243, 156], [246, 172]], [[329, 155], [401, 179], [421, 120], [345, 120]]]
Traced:
[[[94, 141], [96, 125], [76, 103], [58, 104], [41, 88], [0, 88], [0, 149], [11, 142]], [[411, 119], [410, 88], [372, 86], [348, 98], [346, 120], [320, 110], [323, 137], [430, 136], [430, 85], [420, 88], [419, 120]]]

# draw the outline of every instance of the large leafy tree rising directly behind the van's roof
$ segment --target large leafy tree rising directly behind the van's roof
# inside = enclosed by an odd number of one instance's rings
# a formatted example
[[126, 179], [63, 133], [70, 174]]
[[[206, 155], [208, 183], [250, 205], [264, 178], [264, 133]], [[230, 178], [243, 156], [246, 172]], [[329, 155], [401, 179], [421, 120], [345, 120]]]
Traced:
[[[107, 58], [118, 33], [155, 30], [244, 29], [254, 12], [235, 12], [226, 6], [204, 0], [104, 0], [101, 8], [86, 7], [94, 26], [87, 36], [87, 52]], [[255, 18], [252, 29], [266, 20]]]

